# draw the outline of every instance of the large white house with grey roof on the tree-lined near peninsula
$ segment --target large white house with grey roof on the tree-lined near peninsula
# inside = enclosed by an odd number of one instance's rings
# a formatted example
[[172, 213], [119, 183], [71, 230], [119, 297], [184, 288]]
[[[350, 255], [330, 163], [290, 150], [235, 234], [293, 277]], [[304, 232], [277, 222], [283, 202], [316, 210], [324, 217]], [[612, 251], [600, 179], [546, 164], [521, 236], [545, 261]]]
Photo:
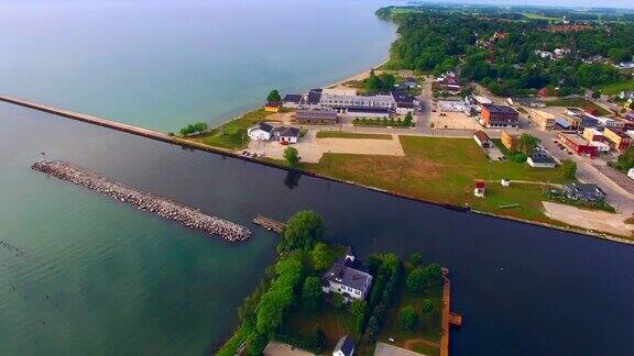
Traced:
[[365, 299], [372, 286], [372, 276], [362, 270], [362, 264], [349, 248], [346, 257], [332, 264], [321, 278], [321, 290], [343, 296], [343, 302]]

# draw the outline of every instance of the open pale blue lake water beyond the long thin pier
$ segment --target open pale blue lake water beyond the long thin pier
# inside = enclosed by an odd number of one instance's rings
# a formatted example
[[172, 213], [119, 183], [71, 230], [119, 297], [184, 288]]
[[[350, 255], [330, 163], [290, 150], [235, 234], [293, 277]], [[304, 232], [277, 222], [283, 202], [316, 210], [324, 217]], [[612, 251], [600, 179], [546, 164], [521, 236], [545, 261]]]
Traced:
[[0, 92], [162, 131], [379, 64], [385, 1], [0, 2]]

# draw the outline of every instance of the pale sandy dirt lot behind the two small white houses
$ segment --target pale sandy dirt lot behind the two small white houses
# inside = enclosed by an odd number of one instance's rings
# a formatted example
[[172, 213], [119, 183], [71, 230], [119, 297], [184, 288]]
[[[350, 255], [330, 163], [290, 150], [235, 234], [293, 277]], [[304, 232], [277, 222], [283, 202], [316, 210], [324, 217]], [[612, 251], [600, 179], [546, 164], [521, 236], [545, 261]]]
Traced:
[[[284, 159], [287, 146], [267, 141], [253, 141], [249, 144], [252, 153], [264, 154], [266, 157]], [[316, 132], [310, 131], [293, 147], [297, 148], [302, 162], [318, 163], [325, 153], [341, 153], [357, 155], [404, 156], [401, 141], [396, 135], [392, 140], [373, 138], [316, 138]]]

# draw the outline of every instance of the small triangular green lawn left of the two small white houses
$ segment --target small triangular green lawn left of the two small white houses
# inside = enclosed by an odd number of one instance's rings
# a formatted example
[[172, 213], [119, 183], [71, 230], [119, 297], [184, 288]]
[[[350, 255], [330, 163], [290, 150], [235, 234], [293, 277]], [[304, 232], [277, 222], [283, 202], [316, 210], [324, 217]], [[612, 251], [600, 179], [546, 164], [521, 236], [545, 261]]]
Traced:
[[258, 109], [243, 114], [242, 116], [229, 121], [219, 127], [206, 132], [200, 135], [193, 135], [186, 140], [204, 143], [209, 146], [239, 149], [247, 147], [249, 144], [249, 136], [247, 129], [264, 121], [264, 119], [273, 112], [266, 112], [264, 109]]

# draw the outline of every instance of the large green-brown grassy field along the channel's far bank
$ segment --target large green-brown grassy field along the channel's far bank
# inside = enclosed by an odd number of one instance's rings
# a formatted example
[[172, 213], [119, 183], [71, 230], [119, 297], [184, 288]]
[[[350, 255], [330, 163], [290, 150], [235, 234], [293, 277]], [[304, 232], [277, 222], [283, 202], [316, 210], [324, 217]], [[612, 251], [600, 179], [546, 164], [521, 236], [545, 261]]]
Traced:
[[[471, 138], [400, 136], [405, 157], [326, 154], [318, 164], [303, 167], [340, 179], [405, 193], [412, 197], [463, 205], [523, 219], [548, 221], [542, 208], [542, 185], [512, 183], [502, 178], [538, 182], [564, 182], [560, 168], [533, 168], [513, 162], [489, 162]], [[491, 180], [487, 198], [473, 197], [476, 179]], [[501, 209], [502, 204], [520, 204]]]

